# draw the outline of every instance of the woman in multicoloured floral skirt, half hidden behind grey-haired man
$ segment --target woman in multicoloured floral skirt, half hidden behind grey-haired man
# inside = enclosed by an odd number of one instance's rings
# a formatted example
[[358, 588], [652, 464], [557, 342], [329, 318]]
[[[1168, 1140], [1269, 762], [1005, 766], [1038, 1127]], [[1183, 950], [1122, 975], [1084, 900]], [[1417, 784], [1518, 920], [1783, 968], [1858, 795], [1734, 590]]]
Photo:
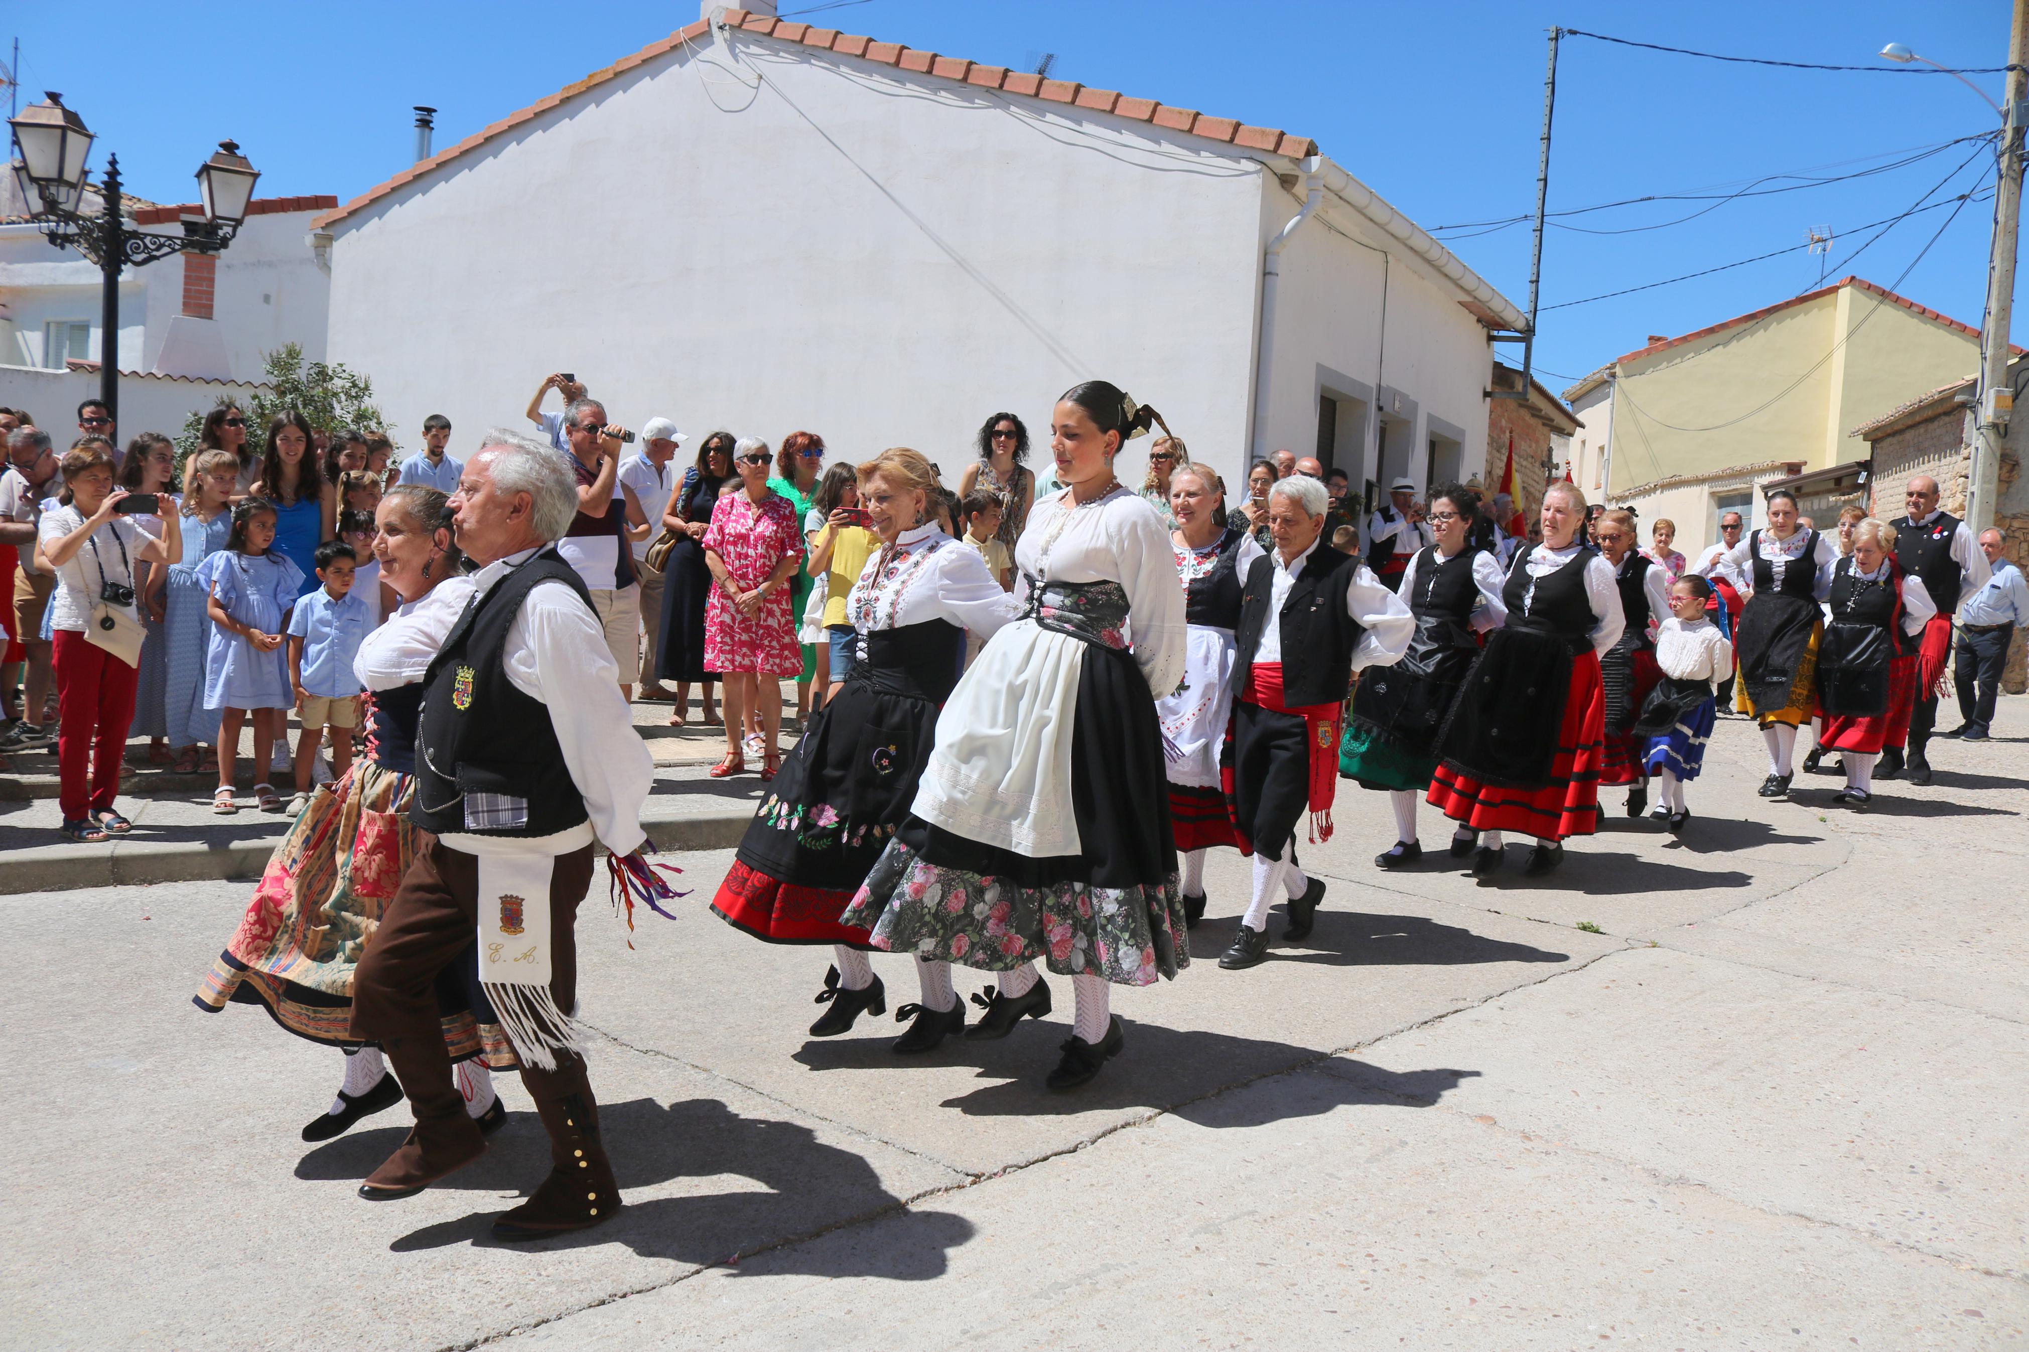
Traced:
[[[402, 608], [361, 641], [353, 663], [369, 691], [367, 754], [310, 799], [193, 997], [207, 1013], [227, 1001], [266, 1005], [288, 1032], [345, 1052], [345, 1082], [302, 1129], [304, 1141], [327, 1141], [402, 1103], [379, 1046], [353, 1036], [353, 973], [402, 874], [430, 845], [430, 835], [408, 821], [422, 673], [473, 598], [473, 584], [459, 576], [442, 493], [398, 484], [381, 499], [377, 525], [373, 557]], [[479, 989], [475, 953], [438, 983], [438, 1011], [465, 1111], [491, 1135], [507, 1109], [487, 1068], [513, 1070], [519, 1062]]]

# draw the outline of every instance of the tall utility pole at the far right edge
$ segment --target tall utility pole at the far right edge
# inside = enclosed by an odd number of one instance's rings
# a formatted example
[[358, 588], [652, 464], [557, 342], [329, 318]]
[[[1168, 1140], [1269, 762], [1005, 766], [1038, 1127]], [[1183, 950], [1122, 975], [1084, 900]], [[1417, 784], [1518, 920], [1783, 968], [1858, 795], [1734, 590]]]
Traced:
[[2015, 0], [2009, 32], [2009, 91], [2003, 105], [2001, 178], [1995, 184], [1995, 243], [1986, 259], [1986, 324], [1980, 330], [1980, 397], [1966, 411], [1972, 474], [1966, 523], [1972, 533], [1995, 525], [2001, 497], [2001, 438], [2007, 436], [2009, 318], [2015, 302], [2015, 233], [2023, 205], [2023, 124], [2029, 122], [2029, 0]]

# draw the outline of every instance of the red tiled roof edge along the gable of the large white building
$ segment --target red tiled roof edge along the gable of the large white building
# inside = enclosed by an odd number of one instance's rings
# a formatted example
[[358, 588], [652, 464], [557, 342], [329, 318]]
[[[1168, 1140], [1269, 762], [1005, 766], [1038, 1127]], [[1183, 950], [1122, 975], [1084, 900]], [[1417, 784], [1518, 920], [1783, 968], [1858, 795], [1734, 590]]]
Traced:
[[[1029, 71], [1012, 71], [1004, 65], [980, 65], [976, 61], [966, 61], [964, 57], [943, 57], [933, 51], [921, 51], [913, 47], [903, 47], [901, 43], [877, 43], [868, 36], [858, 36], [852, 32], [840, 32], [838, 28], [816, 28], [812, 24], [787, 22], [767, 14], [749, 14], [747, 10], [726, 10], [722, 16], [726, 28], [739, 28], [741, 32], [751, 32], [755, 36], [767, 36], [781, 43], [797, 43], [801, 47], [814, 47], [818, 51], [834, 51], [842, 57], [858, 57], [862, 61], [874, 61], [881, 65], [893, 65], [903, 71], [917, 75], [931, 75], [937, 79], [950, 79], [954, 83], [972, 85], [978, 89], [996, 89], [1002, 93], [1014, 93], [1021, 97], [1043, 99], [1047, 103], [1069, 103], [1073, 107], [1083, 107], [1088, 111], [1112, 114], [1116, 118], [1128, 118], [1132, 122], [1148, 122], [1163, 128], [1165, 132], [1183, 132], [1187, 136], [1203, 136], [1207, 140], [1226, 142], [1230, 146], [1240, 146], [1244, 150], [1262, 150], [1268, 154], [1288, 156], [1301, 160], [1305, 156], [1317, 154], [1317, 142], [1309, 136], [1295, 136], [1276, 128], [1256, 128], [1242, 124], [1234, 118], [1211, 118], [1189, 107], [1173, 107], [1169, 103], [1159, 103], [1155, 99], [1136, 99], [1114, 89], [1088, 89], [1075, 81], [1043, 79]], [[546, 114], [558, 103], [572, 99], [586, 89], [594, 89], [623, 71], [661, 57], [676, 47], [682, 47], [694, 39], [702, 39], [710, 32], [710, 20], [696, 20], [672, 32], [666, 39], [649, 43], [637, 53], [621, 57], [609, 67], [592, 71], [584, 79], [564, 85], [546, 99], [538, 99], [523, 109], [507, 114], [499, 122], [493, 122], [479, 132], [473, 132], [457, 146], [438, 150], [428, 160], [418, 160], [410, 164], [400, 174], [394, 174], [386, 182], [379, 182], [353, 201], [327, 211], [325, 215], [310, 221], [314, 229], [325, 229], [345, 217], [361, 211], [363, 207], [388, 197], [396, 189], [422, 174], [448, 164], [467, 150], [477, 150], [485, 142], [501, 136], [509, 128], [521, 126], [534, 120], [538, 114]], [[335, 205], [335, 203], [333, 203]]]

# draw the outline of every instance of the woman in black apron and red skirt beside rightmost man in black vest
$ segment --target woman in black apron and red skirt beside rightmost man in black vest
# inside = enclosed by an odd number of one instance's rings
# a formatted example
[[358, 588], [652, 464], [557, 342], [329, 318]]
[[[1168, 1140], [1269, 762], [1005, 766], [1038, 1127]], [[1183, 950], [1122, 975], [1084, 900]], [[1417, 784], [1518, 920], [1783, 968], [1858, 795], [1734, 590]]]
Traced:
[[1836, 750], [1846, 770], [1836, 801], [1867, 807], [1881, 748], [1909, 734], [1923, 628], [1938, 602], [1895, 557], [1895, 527], [1867, 519], [1832, 570], [1830, 608], [1818, 647], [1820, 746]]

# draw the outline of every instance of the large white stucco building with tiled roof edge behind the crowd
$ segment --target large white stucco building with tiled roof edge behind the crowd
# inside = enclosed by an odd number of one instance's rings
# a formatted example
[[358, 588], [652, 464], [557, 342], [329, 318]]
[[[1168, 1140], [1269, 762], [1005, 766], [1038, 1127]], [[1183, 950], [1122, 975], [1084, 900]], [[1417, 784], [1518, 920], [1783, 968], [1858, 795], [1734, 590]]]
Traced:
[[1485, 464], [1489, 334], [1524, 322], [1309, 138], [747, 10], [317, 229], [333, 359], [452, 450], [570, 371], [631, 424], [907, 444], [956, 480], [988, 414], [1045, 442], [1104, 377], [1232, 486], [1280, 446], [1426, 482]]

